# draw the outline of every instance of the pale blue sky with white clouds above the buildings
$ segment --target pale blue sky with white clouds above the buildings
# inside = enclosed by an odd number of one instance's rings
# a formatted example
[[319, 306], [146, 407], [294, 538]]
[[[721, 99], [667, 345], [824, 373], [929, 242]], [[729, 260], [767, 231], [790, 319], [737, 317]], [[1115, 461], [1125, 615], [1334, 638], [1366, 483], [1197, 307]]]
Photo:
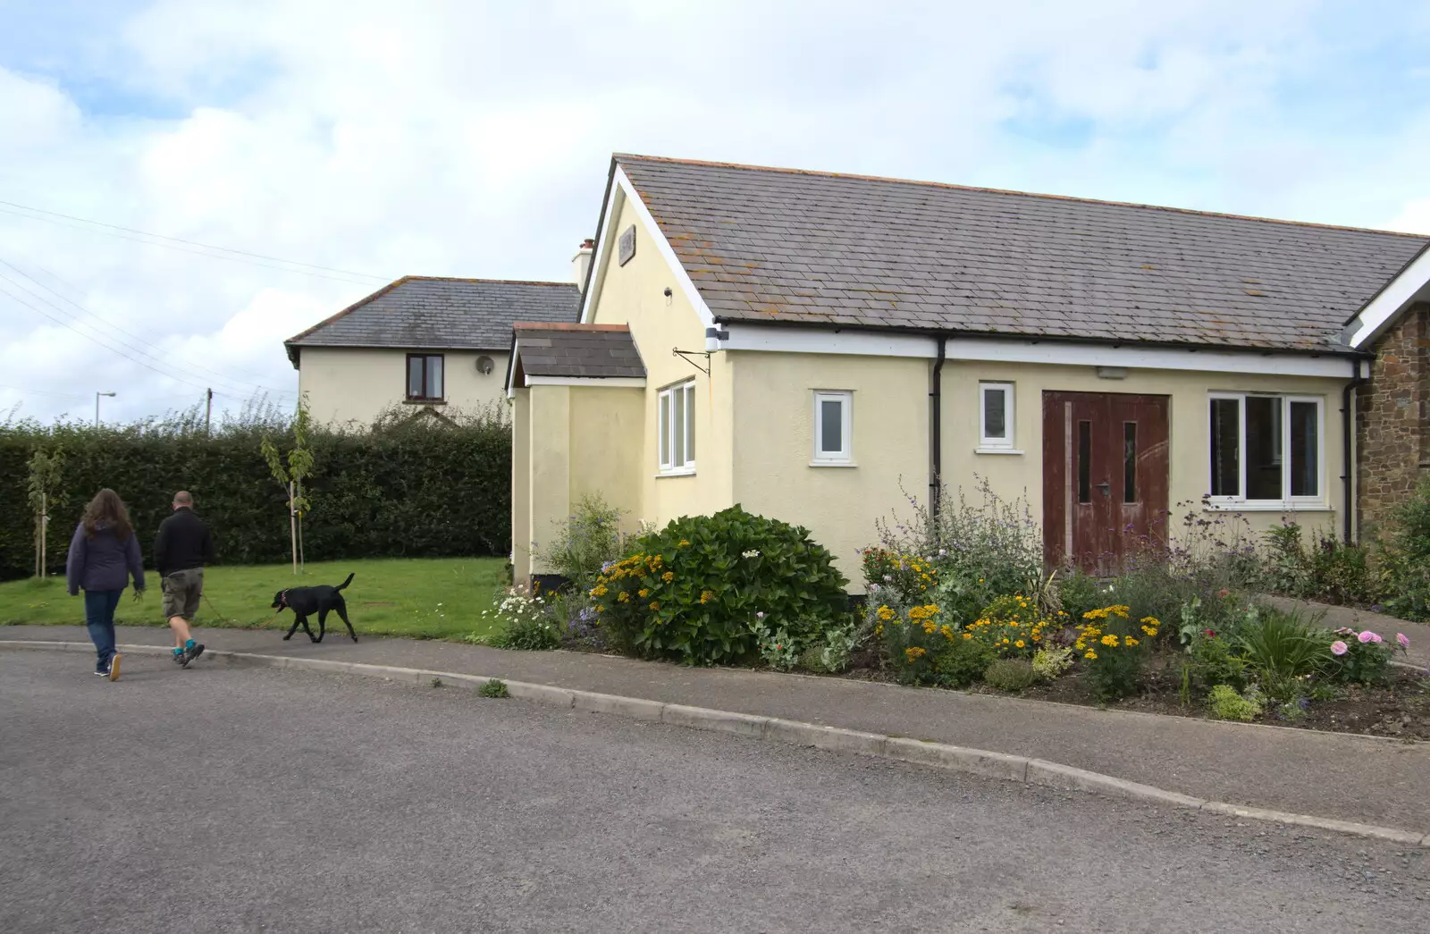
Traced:
[[292, 405], [389, 279], [568, 277], [615, 150], [1430, 232], [1430, 3], [0, 0], [0, 421]]

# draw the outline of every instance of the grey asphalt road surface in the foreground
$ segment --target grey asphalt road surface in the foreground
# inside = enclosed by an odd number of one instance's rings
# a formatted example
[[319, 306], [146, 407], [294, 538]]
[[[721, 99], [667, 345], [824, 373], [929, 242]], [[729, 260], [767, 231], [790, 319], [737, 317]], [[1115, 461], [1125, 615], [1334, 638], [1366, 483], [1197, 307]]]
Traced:
[[7, 934], [1430, 931], [1423, 848], [456, 688], [90, 664], [0, 652]]

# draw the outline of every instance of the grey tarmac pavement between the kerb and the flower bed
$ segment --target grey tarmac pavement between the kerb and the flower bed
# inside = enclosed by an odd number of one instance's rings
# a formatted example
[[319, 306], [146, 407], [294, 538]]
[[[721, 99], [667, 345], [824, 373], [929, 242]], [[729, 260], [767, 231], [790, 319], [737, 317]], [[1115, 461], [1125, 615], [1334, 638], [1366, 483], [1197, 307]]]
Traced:
[[[1198, 798], [1430, 832], [1430, 744], [1218, 724], [1017, 698], [742, 669], [682, 668], [579, 652], [452, 642], [204, 629], [216, 649], [479, 674], [831, 727], [898, 734], [1115, 775]], [[82, 626], [0, 626], [0, 639], [86, 642]], [[120, 644], [169, 644], [123, 628]], [[89, 675], [89, 662], [76, 659]], [[202, 665], [202, 662], [200, 662]], [[179, 672], [174, 672], [176, 675]]]

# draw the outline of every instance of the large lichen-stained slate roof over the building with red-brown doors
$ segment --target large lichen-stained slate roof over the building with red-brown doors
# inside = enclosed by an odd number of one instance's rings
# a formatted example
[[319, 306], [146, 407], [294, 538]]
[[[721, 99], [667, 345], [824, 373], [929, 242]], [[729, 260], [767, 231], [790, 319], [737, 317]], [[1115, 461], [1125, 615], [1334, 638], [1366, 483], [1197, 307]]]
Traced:
[[1430, 239], [615, 156], [718, 320], [1334, 350]]

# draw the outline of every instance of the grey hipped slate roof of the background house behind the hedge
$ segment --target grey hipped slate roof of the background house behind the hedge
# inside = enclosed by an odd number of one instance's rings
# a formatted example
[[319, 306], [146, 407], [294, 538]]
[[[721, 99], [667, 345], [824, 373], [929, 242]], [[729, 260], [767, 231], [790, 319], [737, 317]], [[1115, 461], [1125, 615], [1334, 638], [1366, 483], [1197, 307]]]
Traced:
[[505, 350], [512, 323], [575, 322], [581, 290], [563, 282], [403, 276], [285, 342], [295, 348]]

